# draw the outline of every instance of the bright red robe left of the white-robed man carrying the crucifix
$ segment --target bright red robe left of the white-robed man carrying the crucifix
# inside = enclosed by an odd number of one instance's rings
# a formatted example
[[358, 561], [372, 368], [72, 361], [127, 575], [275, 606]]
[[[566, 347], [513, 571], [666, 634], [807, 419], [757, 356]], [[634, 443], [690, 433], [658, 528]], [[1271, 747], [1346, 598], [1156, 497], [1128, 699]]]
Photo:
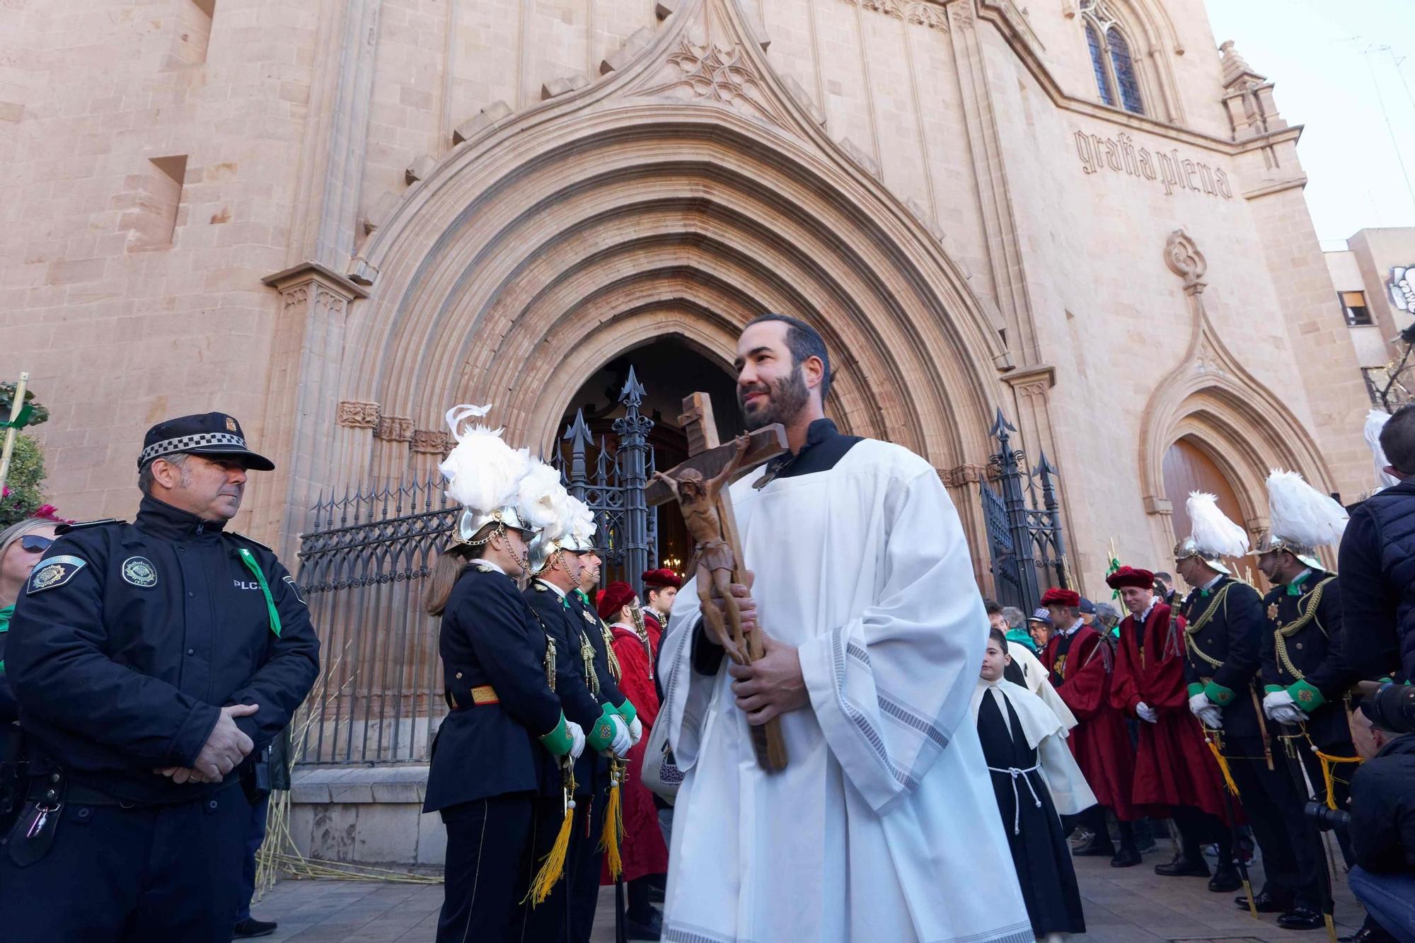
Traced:
[[[658, 623], [644, 619], [644, 627], [657, 661]], [[658, 716], [658, 690], [649, 677], [649, 656], [644, 651], [638, 633], [623, 624], [614, 624], [613, 631], [614, 654], [623, 668], [620, 691], [634, 704], [637, 716], [644, 724], [644, 738], [628, 752], [624, 784], [620, 786], [624, 803], [624, 842], [620, 854], [624, 859], [624, 879], [633, 881], [651, 874], [668, 874], [668, 848], [664, 845], [664, 833], [658, 828], [658, 808], [654, 806], [654, 794], [641, 779], [648, 733]], [[600, 871], [600, 884], [614, 884], [608, 865]]]

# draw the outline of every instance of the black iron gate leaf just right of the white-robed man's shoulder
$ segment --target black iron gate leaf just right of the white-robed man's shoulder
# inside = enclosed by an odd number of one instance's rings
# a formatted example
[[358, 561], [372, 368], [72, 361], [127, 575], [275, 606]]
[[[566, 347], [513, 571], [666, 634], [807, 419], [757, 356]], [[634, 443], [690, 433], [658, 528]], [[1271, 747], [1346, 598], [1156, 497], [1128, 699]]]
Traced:
[[1041, 600], [1041, 586], [1074, 588], [1061, 532], [1057, 470], [1041, 460], [1027, 471], [1027, 456], [1012, 447], [1012, 423], [998, 409], [992, 438], [998, 452], [988, 459], [979, 483], [993, 593], [1003, 606], [1032, 613]]

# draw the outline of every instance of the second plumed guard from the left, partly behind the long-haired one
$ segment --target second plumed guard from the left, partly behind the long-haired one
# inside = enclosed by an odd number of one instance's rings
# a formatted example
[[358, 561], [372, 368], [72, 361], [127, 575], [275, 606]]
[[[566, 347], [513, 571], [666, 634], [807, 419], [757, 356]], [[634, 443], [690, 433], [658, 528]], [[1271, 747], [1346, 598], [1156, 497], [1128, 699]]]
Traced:
[[[570, 517], [559, 521], [558, 528], [542, 532], [531, 545], [531, 572], [535, 578], [526, 586], [525, 598], [555, 640], [556, 692], [566, 716], [584, 726], [590, 749], [574, 765], [576, 806], [567, 881], [556, 885], [550, 898], [529, 915], [526, 939], [543, 943], [583, 943], [590, 937], [599, 901], [600, 855], [596, 847], [603, 824], [603, 797], [608, 789], [610, 766], [604, 755], [623, 758], [633, 745], [624, 714], [618, 709], [628, 701], [623, 695], [614, 701], [613, 692], [618, 687], [613, 678], [606, 684], [607, 664], [591, 641], [599, 634], [597, 626], [577, 615], [580, 598], [574, 590], [580, 585], [586, 558], [599, 559], [593, 556], [590, 542], [593, 517], [587, 507], [569, 496], [563, 503]], [[560, 790], [546, 790], [536, 817], [536, 859], [549, 851], [560, 818]]]

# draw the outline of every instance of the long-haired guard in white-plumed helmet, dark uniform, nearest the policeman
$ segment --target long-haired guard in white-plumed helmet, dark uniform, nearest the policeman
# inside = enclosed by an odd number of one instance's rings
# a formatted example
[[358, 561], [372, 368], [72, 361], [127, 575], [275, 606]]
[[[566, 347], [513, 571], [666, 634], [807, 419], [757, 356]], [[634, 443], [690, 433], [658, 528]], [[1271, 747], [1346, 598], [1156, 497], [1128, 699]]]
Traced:
[[526, 462], [499, 430], [463, 428], [488, 408], [447, 413], [457, 445], [441, 464], [463, 511], [424, 605], [441, 616], [437, 647], [451, 712], [433, 742], [423, 811], [447, 828], [437, 940], [522, 939], [521, 902], [535, 865], [536, 796], [560, 782], [584, 733], [556, 695], [556, 653], [516, 588], [535, 528], [515, 496]]

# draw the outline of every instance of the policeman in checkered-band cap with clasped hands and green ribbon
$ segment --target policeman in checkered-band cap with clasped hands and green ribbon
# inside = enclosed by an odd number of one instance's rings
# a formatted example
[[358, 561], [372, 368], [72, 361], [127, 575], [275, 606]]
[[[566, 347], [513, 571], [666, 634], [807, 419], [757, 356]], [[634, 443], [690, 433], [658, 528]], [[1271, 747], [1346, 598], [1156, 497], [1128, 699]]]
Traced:
[[241, 425], [161, 422], [137, 467], [136, 521], [61, 528], [16, 606], [33, 777], [0, 854], [6, 939], [229, 940], [241, 767], [318, 674], [293, 578], [225, 530], [246, 471], [275, 467]]

